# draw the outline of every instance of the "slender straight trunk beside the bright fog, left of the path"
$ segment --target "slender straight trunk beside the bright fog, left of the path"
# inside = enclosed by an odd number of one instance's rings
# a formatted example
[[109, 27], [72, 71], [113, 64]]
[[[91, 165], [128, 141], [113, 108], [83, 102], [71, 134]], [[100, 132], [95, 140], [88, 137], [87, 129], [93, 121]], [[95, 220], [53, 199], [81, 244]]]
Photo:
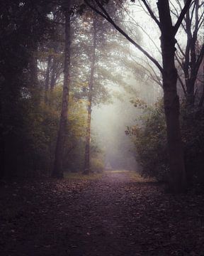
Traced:
[[91, 57], [91, 73], [89, 78], [89, 99], [88, 99], [88, 118], [87, 118], [87, 129], [86, 129], [86, 145], [85, 145], [85, 159], [84, 159], [84, 174], [90, 172], [90, 140], [91, 140], [91, 111], [92, 111], [92, 92], [94, 86], [94, 71], [96, 63], [96, 21], [94, 17], [93, 21], [93, 50]]

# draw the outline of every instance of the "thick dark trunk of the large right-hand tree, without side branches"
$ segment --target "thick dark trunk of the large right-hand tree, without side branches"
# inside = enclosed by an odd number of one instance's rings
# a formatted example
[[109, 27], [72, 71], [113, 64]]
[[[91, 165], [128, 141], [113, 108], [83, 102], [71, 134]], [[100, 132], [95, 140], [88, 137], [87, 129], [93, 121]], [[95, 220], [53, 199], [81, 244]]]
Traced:
[[179, 124], [179, 96], [176, 92], [178, 79], [174, 63], [175, 43], [174, 28], [171, 23], [168, 0], [158, 0], [159, 18], [161, 24], [162, 61], [164, 72], [164, 111], [166, 117], [167, 142], [169, 146], [170, 190], [174, 193], [186, 188], [186, 171], [183, 159], [183, 147]]

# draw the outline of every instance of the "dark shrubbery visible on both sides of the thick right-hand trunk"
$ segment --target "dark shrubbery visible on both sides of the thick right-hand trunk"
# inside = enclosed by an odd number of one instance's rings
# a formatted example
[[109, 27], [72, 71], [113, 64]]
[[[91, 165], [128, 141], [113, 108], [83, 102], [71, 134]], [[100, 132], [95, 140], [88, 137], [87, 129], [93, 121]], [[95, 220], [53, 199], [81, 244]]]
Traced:
[[[135, 156], [142, 165], [142, 176], [166, 181], [169, 175], [166, 124], [162, 102], [149, 107], [134, 127]], [[128, 132], [128, 134], [132, 134]], [[188, 182], [204, 181], [204, 110], [181, 105], [181, 134]]]

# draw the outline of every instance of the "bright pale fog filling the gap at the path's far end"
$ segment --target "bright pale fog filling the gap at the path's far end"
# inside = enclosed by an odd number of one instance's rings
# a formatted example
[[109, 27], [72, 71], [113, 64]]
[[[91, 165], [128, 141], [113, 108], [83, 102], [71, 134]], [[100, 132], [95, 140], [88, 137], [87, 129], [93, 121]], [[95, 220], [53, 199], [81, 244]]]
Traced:
[[106, 169], [133, 170], [137, 163], [134, 145], [125, 135], [127, 125], [133, 124], [127, 110], [135, 109], [130, 102], [115, 99], [113, 104], [95, 107], [93, 110], [92, 131], [105, 156]]

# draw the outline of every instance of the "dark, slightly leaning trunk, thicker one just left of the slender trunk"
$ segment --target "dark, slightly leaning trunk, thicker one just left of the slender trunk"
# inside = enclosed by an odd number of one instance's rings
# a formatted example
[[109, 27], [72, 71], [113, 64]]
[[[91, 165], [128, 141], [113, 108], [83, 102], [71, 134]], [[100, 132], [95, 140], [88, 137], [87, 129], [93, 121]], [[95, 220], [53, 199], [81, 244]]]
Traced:
[[57, 144], [55, 148], [55, 161], [52, 170], [52, 177], [63, 178], [63, 154], [64, 142], [66, 140], [67, 120], [68, 120], [68, 100], [69, 100], [69, 67], [70, 67], [70, 23], [71, 10], [70, 2], [68, 2], [66, 9], [64, 9], [65, 16], [65, 47], [64, 47], [64, 84], [62, 92], [62, 109], [60, 116], [60, 127], [57, 134]]

